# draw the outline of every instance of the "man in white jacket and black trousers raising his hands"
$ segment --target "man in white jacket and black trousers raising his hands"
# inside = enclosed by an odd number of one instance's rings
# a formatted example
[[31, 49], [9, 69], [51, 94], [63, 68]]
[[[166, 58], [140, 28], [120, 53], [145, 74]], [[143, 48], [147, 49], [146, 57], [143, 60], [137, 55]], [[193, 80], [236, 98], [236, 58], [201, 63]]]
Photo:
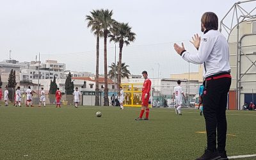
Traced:
[[[227, 134], [227, 93], [231, 84], [228, 43], [218, 31], [218, 17], [215, 13], [202, 15], [201, 31], [190, 41], [198, 50], [196, 54], [174, 44], [175, 51], [188, 62], [204, 64], [204, 118], [207, 132], [207, 150], [198, 160], [228, 159], [225, 146]], [[217, 133], [217, 134], [216, 134]], [[216, 148], [216, 135], [218, 147]]]

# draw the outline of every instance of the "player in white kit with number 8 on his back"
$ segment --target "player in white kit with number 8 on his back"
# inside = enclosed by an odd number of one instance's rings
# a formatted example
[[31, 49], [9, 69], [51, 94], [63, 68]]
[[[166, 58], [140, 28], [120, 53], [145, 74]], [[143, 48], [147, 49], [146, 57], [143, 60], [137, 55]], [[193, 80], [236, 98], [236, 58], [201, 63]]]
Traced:
[[173, 97], [175, 97], [175, 101], [176, 101], [176, 107], [175, 108], [175, 112], [176, 114], [179, 113], [179, 115], [181, 114], [181, 105], [182, 105], [182, 95], [185, 98], [184, 92], [182, 90], [182, 87], [180, 86], [180, 80], [177, 81], [178, 86], [175, 86], [173, 89]]

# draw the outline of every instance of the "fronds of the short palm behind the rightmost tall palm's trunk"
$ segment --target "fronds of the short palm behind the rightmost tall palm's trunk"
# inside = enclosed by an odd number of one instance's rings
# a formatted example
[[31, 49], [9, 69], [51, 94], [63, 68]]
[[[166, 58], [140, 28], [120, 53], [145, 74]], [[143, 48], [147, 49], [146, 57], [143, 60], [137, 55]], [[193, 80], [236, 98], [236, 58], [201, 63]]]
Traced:
[[[118, 62], [119, 63], [119, 62]], [[109, 65], [109, 72], [108, 72], [108, 76], [110, 79], [115, 78], [115, 72], [117, 72], [117, 66], [119, 65], [117, 63], [117, 65], [115, 63], [111, 63], [111, 65]], [[125, 65], [125, 63], [122, 63], [121, 65], [121, 78], [124, 79], [125, 77], [127, 79], [129, 79], [129, 76], [131, 75], [130, 70], [128, 70], [129, 65]]]

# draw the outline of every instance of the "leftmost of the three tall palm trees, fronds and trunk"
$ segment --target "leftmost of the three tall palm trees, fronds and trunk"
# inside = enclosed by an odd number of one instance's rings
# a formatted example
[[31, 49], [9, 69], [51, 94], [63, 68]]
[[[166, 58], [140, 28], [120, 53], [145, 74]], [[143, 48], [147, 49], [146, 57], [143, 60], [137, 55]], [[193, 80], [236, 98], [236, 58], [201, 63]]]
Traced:
[[96, 44], [96, 86], [95, 86], [95, 106], [99, 106], [99, 39], [103, 36], [100, 28], [99, 14], [100, 10], [93, 10], [90, 12], [91, 15], [86, 15], [86, 20], [88, 20], [87, 28], [91, 28], [93, 35], [97, 37]]

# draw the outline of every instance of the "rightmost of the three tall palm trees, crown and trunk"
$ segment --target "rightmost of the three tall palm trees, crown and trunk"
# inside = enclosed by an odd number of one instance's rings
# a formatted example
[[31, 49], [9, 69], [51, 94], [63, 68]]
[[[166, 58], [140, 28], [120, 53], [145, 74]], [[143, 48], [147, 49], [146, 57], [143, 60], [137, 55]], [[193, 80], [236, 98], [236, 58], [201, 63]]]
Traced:
[[119, 43], [119, 60], [118, 60], [118, 74], [117, 74], [117, 88], [118, 93], [120, 92], [120, 84], [122, 78], [122, 50], [125, 45], [129, 45], [130, 42], [134, 42], [136, 34], [131, 31], [131, 27], [128, 23], [116, 23], [111, 28], [110, 42]]

